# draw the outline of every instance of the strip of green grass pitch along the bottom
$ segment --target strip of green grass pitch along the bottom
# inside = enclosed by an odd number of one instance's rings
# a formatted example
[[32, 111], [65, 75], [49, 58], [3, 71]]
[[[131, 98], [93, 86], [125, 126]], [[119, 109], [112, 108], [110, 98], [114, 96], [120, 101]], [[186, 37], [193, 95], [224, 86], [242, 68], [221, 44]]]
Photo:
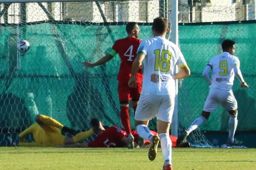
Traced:
[[[160, 149], [0, 147], [0, 170], [162, 170]], [[255, 170], [256, 149], [173, 148], [174, 170]]]

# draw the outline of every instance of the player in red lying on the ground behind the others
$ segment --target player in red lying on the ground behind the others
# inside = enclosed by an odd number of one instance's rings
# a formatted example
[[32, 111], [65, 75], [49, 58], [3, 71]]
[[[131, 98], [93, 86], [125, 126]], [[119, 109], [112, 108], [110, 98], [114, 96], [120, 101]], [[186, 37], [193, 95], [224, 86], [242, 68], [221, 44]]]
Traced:
[[[134, 136], [134, 141], [129, 140], [128, 136], [129, 134], [126, 133], [124, 130], [118, 129], [116, 126], [111, 126], [108, 128], [105, 128], [102, 126], [102, 123], [98, 119], [91, 119], [90, 121], [92, 127], [99, 127], [99, 136], [96, 137], [92, 142], [88, 143], [82, 143], [82, 144], [65, 144], [63, 146], [58, 147], [128, 147], [133, 148], [131, 146], [137, 147], [139, 143], [139, 135], [135, 130], [131, 131], [131, 134]], [[151, 131], [155, 135], [157, 135], [156, 132]], [[189, 143], [177, 145], [176, 141], [177, 138], [174, 136], [170, 136], [173, 142], [173, 147], [189, 147]], [[134, 144], [130, 144], [131, 142], [134, 142]], [[150, 145], [150, 142], [148, 140], [145, 140], [141, 144], [142, 147], [148, 147]]]

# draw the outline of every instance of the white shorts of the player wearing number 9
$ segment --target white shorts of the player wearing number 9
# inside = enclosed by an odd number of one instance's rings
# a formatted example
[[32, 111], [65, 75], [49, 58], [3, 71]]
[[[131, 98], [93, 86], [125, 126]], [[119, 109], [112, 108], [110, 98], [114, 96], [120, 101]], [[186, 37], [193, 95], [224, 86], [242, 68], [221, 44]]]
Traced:
[[204, 103], [203, 111], [213, 112], [219, 105], [227, 109], [227, 111], [234, 111], [237, 109], [236, 98], [232, 90], [227, 91], [210, 88], [209, 94]]

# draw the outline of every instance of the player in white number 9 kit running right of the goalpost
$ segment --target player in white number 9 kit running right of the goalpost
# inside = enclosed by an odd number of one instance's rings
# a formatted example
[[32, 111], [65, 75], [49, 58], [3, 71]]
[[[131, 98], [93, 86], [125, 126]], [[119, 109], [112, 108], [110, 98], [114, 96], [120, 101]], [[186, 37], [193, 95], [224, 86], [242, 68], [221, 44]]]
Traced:
[[[239, 79], [241, 87], [248, 88], [249, 86], [244, 81], [241, 74], [238, 57], [233, 55], [235, 52], [235, 42], [229, 39], [224, 40], [221, 46], [223, 53], [210, 59], [202, 73], [204, 79], [210, 85], [209, 94], [204, 103], [202, 114], [183, 132], [178, 139], [178, 143], [186, 142], [186, 137], [189, 133], [206, 122], [210, 113], [221, 105], [230, 114], [227, 146], [240, 145], [236, 143], [234, 139], [238, 122], [237, 101], [232, 91], [235, 75]], [[212, 78], [210, 79], [209, 72], [211, 70]]]

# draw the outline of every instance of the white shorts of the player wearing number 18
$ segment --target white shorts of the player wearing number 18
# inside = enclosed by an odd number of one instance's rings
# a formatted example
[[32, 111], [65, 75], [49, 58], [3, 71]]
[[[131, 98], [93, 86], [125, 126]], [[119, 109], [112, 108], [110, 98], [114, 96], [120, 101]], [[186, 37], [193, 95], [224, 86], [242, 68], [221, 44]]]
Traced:
[[135, 120], [145, 121], [157, 119], [163, 122], [172, 122], [175, 97], [158, 95], [140, 95], [140, 100], [135, 112]]

